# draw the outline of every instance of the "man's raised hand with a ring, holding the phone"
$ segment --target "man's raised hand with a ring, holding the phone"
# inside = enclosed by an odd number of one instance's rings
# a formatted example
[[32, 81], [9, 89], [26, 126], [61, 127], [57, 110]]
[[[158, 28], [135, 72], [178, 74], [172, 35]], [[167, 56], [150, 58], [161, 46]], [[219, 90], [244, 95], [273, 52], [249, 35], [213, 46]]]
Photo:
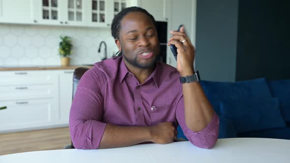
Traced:
[[[184, 27], [181, 27], [179, 32], [171, 31], [170, 33], [173, 36], [169, 39], [168, 46], [173, 44], [177, 48], [177, 71], [180, 73], [181, 77], [193, 75], [195, 48], [193, 47], [190, 39], [184, 32]], [[182, 43], [182, 41], [184, 42]]]

